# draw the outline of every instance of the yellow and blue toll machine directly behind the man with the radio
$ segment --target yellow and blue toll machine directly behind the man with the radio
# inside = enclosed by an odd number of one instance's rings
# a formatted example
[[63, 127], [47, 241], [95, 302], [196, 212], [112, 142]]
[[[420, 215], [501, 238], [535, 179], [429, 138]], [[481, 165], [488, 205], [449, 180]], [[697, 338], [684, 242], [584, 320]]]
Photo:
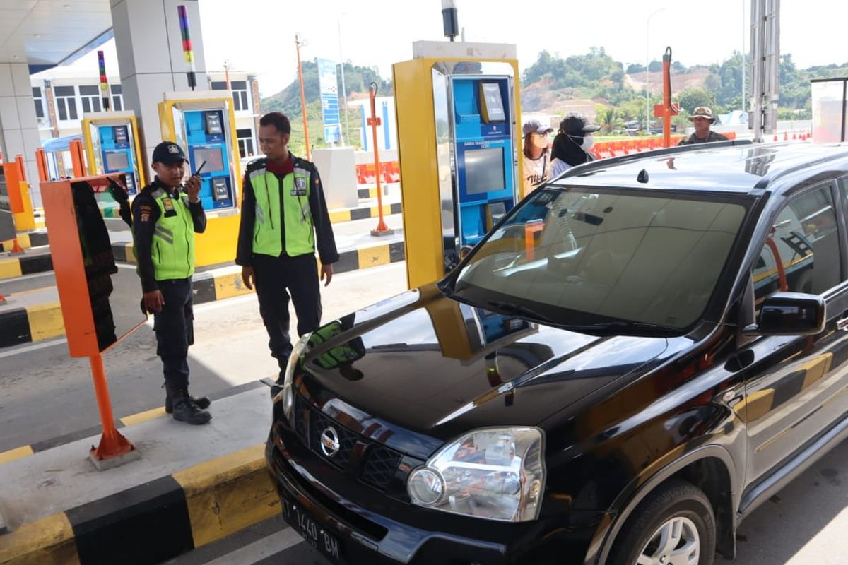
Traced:
[[159, 123], [162, 139], [185, 149], [191, 173], [205, 163], [200, 200], [207, 226], [195, 238], [197, 266], [232, 261], [242, 174], [230, 91], [166, 92], [159, 102]]

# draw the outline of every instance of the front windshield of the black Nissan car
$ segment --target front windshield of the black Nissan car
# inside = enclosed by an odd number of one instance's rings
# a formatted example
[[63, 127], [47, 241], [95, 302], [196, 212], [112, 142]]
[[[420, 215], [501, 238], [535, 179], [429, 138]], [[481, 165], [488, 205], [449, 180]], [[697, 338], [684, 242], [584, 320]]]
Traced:
[[545, 187], [474, 252], [453, 292], [558, 325], [680, 330], [704, 312], [746, 206], [704, 194]]

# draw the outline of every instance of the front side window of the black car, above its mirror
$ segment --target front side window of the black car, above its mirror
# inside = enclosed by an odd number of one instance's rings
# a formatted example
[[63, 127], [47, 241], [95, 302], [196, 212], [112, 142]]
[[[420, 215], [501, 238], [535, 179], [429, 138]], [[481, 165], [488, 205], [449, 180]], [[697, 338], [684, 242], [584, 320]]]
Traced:
[[840, 283], [840, 245], [829, 185], [795, 197], [778, 213], [753, 275], [757, 303], [776, 291], [822, 294]]

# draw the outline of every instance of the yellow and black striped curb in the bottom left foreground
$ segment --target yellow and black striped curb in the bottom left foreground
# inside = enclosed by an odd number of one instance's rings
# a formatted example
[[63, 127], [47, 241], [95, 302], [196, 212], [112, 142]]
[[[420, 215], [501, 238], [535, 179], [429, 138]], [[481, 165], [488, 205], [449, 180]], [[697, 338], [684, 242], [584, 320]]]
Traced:
[[159, 563], [280, 513], [264, 444], [0, 535], [0, 564]]

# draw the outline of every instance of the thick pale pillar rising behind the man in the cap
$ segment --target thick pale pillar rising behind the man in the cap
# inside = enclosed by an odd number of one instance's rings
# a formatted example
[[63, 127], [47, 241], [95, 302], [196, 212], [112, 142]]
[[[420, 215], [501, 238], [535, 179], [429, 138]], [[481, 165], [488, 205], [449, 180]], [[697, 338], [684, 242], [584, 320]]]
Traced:
[[195, 90], [209, 90], [198, 0], [111, 0], [124, 104], [126, 109], [135, 110], [140, 120], [148, 167], [153, 147], [163, 141], [157, 108], [163, 92], [191, 90], [176, 8], [181, 4], [188, 13]]

